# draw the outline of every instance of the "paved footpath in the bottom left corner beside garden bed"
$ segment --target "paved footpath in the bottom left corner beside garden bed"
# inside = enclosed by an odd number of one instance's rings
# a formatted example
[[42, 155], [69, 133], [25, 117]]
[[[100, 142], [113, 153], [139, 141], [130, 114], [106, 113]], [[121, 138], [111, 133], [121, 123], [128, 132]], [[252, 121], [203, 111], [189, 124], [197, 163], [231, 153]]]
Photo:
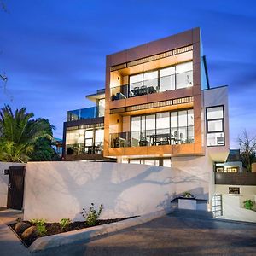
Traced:
[[9, 229], [7, 224], [15, 221], [22, 214], [15, 210], [0, 212], [0, 255], [1, 256], [31, 256], [20, 239]]

